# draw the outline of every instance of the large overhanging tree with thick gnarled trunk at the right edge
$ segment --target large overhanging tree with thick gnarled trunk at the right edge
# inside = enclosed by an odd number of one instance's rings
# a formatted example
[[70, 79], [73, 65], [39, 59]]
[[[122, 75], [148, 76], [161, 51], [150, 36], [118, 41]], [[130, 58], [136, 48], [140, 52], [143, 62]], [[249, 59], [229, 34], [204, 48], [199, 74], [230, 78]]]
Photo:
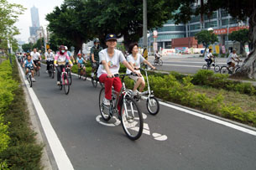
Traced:
[[[197, 6], [195, 6], [197, 3]], [[170, 3], [173, 12], [172, 18], [175, 23], [187, 23], [191, 15], [211, 16], [219, 8], [227, 10], [233, 18], [245, 20], [249, 18], [249, 40], [252, 43], [252, 50], [244, 59], [241, 70], [236, 73], [238, 76], [256, 78], [256, 1], [255, 0], [172, 0]]]

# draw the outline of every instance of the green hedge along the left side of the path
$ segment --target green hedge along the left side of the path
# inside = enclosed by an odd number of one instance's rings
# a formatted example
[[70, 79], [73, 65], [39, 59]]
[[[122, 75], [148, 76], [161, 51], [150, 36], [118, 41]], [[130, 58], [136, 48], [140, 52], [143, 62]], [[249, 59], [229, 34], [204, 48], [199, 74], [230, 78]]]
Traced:
[[3, 129], [9, 138], [8, 147], [5, 145], [0, 152], [0, 169], [42, 169], [40, 158], [43, 145], [36, 144], [36, 134], [30, 129], [24, 91], [18, 86], [21, 83], [18, 67], [14, 59], [13, 62], [12, 66], [8, 61], [0, 65], [1, 121], [8, 125], [8, 131], [6, 126]]

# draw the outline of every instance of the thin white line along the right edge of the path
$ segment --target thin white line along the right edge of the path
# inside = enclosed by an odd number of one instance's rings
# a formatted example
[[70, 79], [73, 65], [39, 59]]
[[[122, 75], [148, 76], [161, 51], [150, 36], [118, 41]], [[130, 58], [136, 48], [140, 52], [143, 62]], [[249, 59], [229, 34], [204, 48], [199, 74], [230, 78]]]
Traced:
[[195, 111], [189, 111], [189, 110], [181, 108], [179, 106], [173, 106], [173, 105], [170, 105], [170, 104], [162, 102], [162, 101], [159, 101], [159, 104], [161, 104], [163, 106], [168, 106], [168, 107], [173, 108], [173, 109], [175, 109], [177, 111], [183, 111], [183, 112], [191, 114], [193, 116], [201, 117], [201, 118], [206, 119], [208, 121], [214, 121], [214, 122], [216, 122], [218, 124], [221, 124], [221, 125], [224, 125], [224, 126], [228, 126], [228, 127], [233, 128], [233, 129], [236, 129], [238, 131], [243, 131], [243, 132], [248, 133], [250, 135], [256, 136], [256, 131], [252, 131], [252, 130], [247, 129], [247, 128], [242, 127], [242, 126], [234, 125], [234, 124], [232, 124], [230, 122], [227, 122], [227, 121], [222, 121], [222, 120], [219, 120], [219, 119], [211, 117], [211, 116], [202, 115], [201, 113], [197, 113]]

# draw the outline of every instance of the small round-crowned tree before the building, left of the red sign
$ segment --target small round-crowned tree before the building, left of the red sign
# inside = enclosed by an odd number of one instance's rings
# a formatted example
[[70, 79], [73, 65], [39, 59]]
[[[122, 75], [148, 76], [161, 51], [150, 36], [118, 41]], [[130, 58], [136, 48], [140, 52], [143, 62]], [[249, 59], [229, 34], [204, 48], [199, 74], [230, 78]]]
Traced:
[[196, 33], [195, 38], [197, 39], [198, 44], [203, 44], [205, 46], [205, 51], [203, 56], [206, 54], [206, 49], [210, 44], [214, 44], [218, 41], [217, 35], [213, 31], [202, 30], [199, 33]]

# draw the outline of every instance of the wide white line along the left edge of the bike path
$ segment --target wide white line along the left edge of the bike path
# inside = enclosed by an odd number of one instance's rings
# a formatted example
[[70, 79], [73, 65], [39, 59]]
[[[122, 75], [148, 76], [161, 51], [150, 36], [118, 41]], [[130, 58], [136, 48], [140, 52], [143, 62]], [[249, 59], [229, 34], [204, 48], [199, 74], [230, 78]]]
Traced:
[[[24, 72], [23, 72], [20, 64], [18, 64], [18, 66], [19, 66], [19, 70], [21, 71], [22, 77], [24, 79]], [[71, 164], [71, 160], [67, 156], [65, 149], [62, 147], [60, 139], [58, 138], [57, 134], [55, 133], [53, 126], [51, 126], [50, 121], [49, 121], [46, 113], [44, 112], [44, 109], [41, 106], [39, 99], [34, 94], [34, 90], [32, 88], [30, 88], [29, 82], [27, 80], [25, 80], [25, 85], [27, 86], [27, 88], [29, 90], [29, 95], [34, 103], [34, 108], [38, 113], [39, 120], [41, 121], [41, 125], [44, 129], [44, 133], [47, 138], [47, 141], [49, 142], [50, 149], [53, 152], [53, 155], [55, 157], [57, 166], [59, 167], [60, 170], [74, 169], [74, 167]]]

